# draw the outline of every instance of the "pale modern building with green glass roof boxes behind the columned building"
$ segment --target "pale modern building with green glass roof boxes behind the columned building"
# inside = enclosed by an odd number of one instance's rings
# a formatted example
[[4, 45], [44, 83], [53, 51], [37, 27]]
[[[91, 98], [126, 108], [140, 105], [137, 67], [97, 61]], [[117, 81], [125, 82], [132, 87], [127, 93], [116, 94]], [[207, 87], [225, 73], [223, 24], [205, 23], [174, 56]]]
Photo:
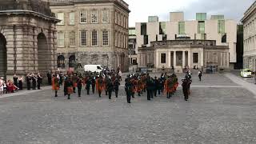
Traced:
[[214, 40], [216, 46], [229, 47], [229, 66], [230, 69], [234, 68], [237, 56], [237, 22], [225, 19], [224, 15], [212, 15], [207, 19], [206, 13], [198, 13], [195, 20], [184, 20], [182, 12], [171, 12], [168, 22], [158, 22], [158, 18], [154, 16], [149, 18], [149, 22], [136, 23], [135, 27], [138, 47], [150, 46], [150, 42], [182, 37]]

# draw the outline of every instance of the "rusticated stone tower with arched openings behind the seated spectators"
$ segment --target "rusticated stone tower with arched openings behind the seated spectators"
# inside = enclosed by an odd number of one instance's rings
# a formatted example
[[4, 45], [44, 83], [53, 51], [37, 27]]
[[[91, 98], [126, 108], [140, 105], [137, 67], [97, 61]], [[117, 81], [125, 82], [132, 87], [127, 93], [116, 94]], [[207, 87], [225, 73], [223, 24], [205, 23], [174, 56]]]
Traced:
[[0, 2], [0, 76], [57, 69], [56, 30], [59, 22], [49, 3], [38, 0]]

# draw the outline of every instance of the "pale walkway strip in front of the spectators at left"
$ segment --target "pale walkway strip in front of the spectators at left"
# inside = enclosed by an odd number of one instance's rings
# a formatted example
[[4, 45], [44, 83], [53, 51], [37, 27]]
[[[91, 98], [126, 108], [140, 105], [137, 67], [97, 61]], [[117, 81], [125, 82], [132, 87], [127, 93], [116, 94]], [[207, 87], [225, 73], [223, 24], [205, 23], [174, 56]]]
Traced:
[[33, 94], [33, 93], [38, 93], [39, 91], [42, 91], [42, 90], [50, 90], [50, 89], [51, 89], [51, 86], [43, 86], [41, 87], [41, 90], [19, 90], [11, 94], [2, 94], [0, 98], [8, 98], [8, 97], [14, 97], [18, 95]]

